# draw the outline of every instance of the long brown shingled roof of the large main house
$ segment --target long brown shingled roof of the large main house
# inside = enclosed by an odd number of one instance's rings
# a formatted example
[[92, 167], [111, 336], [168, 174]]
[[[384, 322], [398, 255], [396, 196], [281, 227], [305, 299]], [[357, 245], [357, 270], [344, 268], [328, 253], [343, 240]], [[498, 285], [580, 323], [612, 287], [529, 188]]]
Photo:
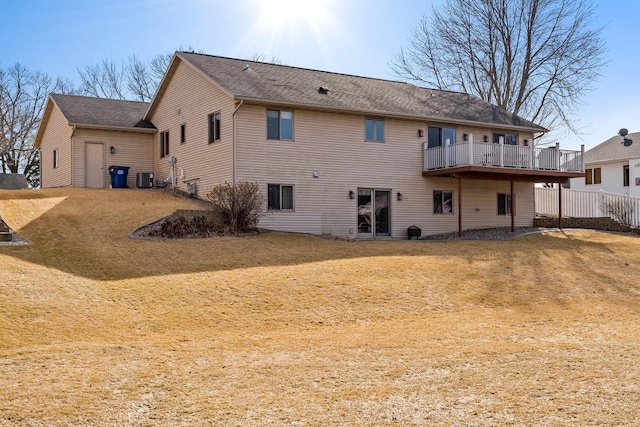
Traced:
[[[178, 62], [184, 62], [229, 97], [247, 102], [401, 117], [490, 124], [532, 132], [546, 129], [477, 97], [410, 83], [359, 77], [199, 53], [177, 52], [145, 115], [148, 120]], [[328, 89], [326, 94], [320, 88]]]

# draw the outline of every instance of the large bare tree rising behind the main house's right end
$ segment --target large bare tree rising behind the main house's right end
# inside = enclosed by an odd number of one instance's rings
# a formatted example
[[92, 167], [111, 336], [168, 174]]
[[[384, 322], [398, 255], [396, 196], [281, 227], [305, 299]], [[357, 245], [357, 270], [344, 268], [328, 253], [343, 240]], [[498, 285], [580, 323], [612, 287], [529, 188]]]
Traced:
[[401, 78], [576, 133], [573, 116], [604, 65], [593, 19], [590, 0], [447, 0], [390, 66]]

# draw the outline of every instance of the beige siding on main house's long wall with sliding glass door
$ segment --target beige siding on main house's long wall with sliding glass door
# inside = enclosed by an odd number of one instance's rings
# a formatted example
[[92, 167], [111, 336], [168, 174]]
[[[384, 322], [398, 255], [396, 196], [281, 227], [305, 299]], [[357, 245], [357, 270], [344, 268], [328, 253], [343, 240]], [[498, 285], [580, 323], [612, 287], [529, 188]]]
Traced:
[[[266, 212], [261, 226], [357, 237], [357, 199], [349, 199], [349, 191], [371, 188], [391, 191], [392, 237], [405, 238], [414, 224], [423, 234], [457, 230], [458, 181], [422, 177], [427, 124], [386, 119], [384, 143], [365, 141], [364, 126], [364, 116], [294, 110], [294, 140], [267, 140], [266, 108], [243, 106], [238, 112], [238, 179], [258, 182], [265, 193], [267, 184], [295, 187], [294, 211]], [[486, 131], [456, 128], [458, 141], [463, 133]], [[425, 130], [423, 138], [418, 129]], [[433, 214], [433, 190], [454, 192], [454, 215]], [[508, 193], [509, 183], [463, 181], [465, 228], [510, 225], [509, 217], [497, 215], [498, 192]], [[518, 183], [516, 192], [517, 224], [531, 225], [533, 185]]]

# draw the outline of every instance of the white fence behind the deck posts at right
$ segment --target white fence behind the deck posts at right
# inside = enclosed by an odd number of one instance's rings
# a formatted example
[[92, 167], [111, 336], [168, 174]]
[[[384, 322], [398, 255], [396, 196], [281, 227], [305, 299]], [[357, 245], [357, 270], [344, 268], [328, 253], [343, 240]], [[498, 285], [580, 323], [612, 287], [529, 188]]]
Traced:
[[[558, 215], [558, 189], [535, 189], [536, 214]], [[640, 227], [640, 199], [603, 191], [562, 190], [562, 216], [610, 217], [631, 227]]]

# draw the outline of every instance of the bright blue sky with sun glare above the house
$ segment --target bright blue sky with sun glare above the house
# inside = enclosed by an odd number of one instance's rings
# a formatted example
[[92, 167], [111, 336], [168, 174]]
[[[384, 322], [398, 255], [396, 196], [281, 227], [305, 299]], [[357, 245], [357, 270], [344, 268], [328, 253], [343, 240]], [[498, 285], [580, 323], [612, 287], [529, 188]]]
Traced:
[[[105, 58], [148, 59], [191, 46], [213, 55], [263, 53], [292, 66], [394, 78], [389, 61], [441, 1], [5, 0], [0, 66], [19, 62], [77, 79], [78, 68]], [[563, 148], [589, 149], [622, 127], [640, 131], [640, 2], [596, 5], [607, 65], [580, 109], [584, 135], [558, 135]]]

